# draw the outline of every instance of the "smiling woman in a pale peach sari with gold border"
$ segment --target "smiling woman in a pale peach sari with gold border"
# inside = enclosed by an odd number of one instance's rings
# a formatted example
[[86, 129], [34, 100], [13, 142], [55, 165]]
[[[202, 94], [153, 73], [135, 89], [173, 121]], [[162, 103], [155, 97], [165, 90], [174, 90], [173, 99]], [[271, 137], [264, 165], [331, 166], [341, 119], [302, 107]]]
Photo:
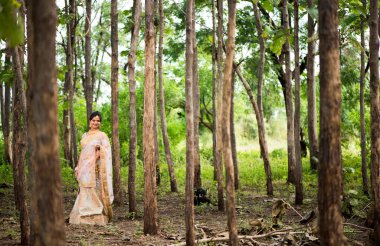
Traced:
[[82, 152], [75, 176], [79, 195], [70, 213], [70, 224], [105, 225], [112, 219], [112, 157], [107, 135], [99, 130], [102, 116], [91, 114], [90, 130], [83, 134]]

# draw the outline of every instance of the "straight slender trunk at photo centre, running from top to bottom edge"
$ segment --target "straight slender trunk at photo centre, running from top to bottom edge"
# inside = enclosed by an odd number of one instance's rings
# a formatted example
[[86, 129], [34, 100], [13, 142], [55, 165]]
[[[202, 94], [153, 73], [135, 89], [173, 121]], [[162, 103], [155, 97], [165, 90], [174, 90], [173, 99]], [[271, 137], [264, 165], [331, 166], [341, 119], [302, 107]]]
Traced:
[[195, 30], [193, 26], [194, 0], [186, 2], [186, 245], [195, 245], [194, 232], [194, 42]]

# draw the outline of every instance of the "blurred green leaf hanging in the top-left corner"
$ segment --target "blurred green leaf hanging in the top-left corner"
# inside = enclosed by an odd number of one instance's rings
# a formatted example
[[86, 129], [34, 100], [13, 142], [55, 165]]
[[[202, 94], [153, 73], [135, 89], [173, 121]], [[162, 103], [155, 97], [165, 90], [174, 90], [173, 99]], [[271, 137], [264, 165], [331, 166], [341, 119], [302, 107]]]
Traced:
[[17, 15], [20, 6], [16, 0], [0, 0], [0, 39], [11, 47], [24, 42], [24, 25]]

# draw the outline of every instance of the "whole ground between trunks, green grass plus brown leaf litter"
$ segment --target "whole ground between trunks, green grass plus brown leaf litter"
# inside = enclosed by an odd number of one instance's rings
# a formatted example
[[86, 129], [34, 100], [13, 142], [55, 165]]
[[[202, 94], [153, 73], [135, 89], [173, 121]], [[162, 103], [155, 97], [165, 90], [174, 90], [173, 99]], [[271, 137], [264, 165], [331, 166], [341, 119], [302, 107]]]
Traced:
[[[301, 225], [302, 217], [316, 209], [317, 174], [310, 171], [308, 159], [303, 159], [304, 204], [294, 206], [294, 187], [286, 184], [287, 158], [283, 150], [271, 152], [271, 165], [274, 182], [274, 197], [265, 194], [265, 173], [259, 153], [239, 152], [240, 188], [236, 194], [236, 211], [240, 235], [263, 235], [271, 231], [283, 230], [278, 235], [258, 239], [242, 239], [242, 245], [318, 245], [318, 235], [314, 234], [312, 222]], [[163, 160], [163, 158], [161, 159]], [[213, 167], [208, 151], [202, 153], [202, 184], [208, 189], [212, 203], [216, 203], [216, 183], [213, 181]], [[345, 222], [365, 227], [365, 217], [370, 205], [369, 199], [361, 191], [360, 157], [345, 153], [344, 180], [345, 201], [343, 210]], [[66, 222], [66, 241], [68, 245], [170, 245], [185, 240], [184, 224], [184, 187], [185, 164], [177, 160], [175, 167], [179, 192], [170, 192], [166, 164], [161, 163], [161, 185], [158, 187], [160, 232], [156, 236], [143, 235], [143, 170], [138, 162], [136, 191], [138, 212], [128, 213], [125, 202], [114, 208], [115, 218], [107, 226], [74, 226]], [[123, 187], [127, 187], [127, 167], [122, 167]], [[77, 183], [71, 168], [62, 168], [64, 192], [64, 214], [68, 218], [73, 207]], [[0, 166], [0, 244], [15, 245], [19, 242], [18, 215], [14, 207], [13, 181], [11, 168]], [[283, 202], [278, 202], [278, 201]], [[275, 223], [274, 204], [282, 204], [278, 222]], [[278, 210], [277, 210], [278, 212]], [[197, 238], [225, 235], [227, 220], [224, 212], [214, 205], [195, 208]], [[350, 245], [369, 245], [369, 230], [346, 224], [345, 236]], [[315, 229], [315, 228], [314, 228]], [[224, 245], [223, 242], [210, 245]]]

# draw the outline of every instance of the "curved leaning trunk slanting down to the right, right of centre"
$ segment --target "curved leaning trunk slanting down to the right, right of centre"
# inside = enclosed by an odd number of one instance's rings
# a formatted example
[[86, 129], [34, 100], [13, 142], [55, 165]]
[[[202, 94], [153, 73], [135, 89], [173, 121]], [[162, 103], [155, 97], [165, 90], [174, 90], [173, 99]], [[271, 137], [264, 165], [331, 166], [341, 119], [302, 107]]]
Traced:
[[264, 119], [261, 117], [259, 106], [257, 102], [255, 101], [255, 97], [253, 96], [251, 87], [249, 86], [248, 82], [244, 79], [243, 75], [240, 72], [240, 69], [238, 67], [236, 67], [235, 69], [236, 69], [237, 75], [239, 76], [241, 82], [244, 85], [245, 90], [247, 91], [249, 100], [251, 101], [253, 110], [255, 111], [257, 128], [259, 132], [259, 144], [260, 144], [261, 157], [263, 158], [264, 170], [265, 170], [265, 175], [267, 179], [267, 184], [266, 184], [267, 195], [272, 196], [273, 195], [272, 170], [270, 167], [268, 145], [267, 145], [267, 141], [265, 137]]

